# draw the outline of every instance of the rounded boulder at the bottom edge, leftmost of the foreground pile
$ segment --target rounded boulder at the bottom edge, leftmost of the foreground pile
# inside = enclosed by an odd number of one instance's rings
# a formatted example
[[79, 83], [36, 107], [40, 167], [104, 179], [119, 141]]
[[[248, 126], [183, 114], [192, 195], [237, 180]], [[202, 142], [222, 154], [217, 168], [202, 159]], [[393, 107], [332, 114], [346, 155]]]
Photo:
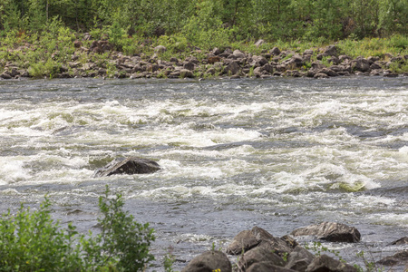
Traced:
[[209, 250], [194, 257], [181, 272], [231, 272], [232, 266], [227, 255], [217, 250]]

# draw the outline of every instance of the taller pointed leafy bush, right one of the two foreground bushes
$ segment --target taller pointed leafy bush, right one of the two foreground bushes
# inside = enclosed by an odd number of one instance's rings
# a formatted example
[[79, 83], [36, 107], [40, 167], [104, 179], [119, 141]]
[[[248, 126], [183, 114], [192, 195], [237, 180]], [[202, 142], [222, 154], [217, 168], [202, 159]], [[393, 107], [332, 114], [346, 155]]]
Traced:
[[108, 187], [104, 198], [99, 199], [103, 218], [98, 222], [102, 232], [95, 238], [81, 240], [88, 254], [86, 260], [93, 267], [113, 263], [119, 270], [139, 271], [154, 258], [149, 252], [154, 240], [153, 230], [149, 229], [148, 223], [135, 222], [128, 212], [122, 210], [123, 205], [121, 195], [109, 198]]

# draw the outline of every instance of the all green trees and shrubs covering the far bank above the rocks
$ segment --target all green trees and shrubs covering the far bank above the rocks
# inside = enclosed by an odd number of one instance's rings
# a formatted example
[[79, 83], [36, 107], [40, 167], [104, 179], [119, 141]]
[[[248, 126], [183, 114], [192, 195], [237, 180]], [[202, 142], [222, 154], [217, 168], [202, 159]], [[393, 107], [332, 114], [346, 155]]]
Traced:
[[[408, 0], [0, 0], [0, 73], [73, 76], [68, 63], [91, 61], [114, 76], [110, 52], [200, 62], [214, 48], [259, 55], [327, 44], [351, 58], [408, 55]], [[166, 50], [155, 51], [159, 45]], [[407, 73], [408, 65], [390, 69]]]

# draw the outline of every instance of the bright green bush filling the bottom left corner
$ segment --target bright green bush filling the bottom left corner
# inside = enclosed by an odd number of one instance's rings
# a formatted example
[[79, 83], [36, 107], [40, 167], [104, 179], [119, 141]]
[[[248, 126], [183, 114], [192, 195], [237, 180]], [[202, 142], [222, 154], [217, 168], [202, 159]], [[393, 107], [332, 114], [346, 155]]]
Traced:
[[74, 271], [82, 266], [79, 250], [73, 243], [75, 228], [63, 230], [50, 216], [50, 201], [38, 211], [23, 205], [17, 215], [10, 210], [0, 220], [0, 271], [51, 271], [63, 267]]

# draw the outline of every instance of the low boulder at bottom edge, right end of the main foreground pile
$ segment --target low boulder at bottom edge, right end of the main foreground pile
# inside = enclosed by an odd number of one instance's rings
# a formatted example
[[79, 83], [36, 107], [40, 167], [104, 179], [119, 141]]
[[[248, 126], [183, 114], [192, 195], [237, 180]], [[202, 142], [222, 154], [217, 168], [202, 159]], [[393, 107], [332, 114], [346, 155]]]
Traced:
[[316, 257], [306, 268], [306, 272], [357, 272], [355, 267], [347, 265], [333, 257], [322, 255]]

